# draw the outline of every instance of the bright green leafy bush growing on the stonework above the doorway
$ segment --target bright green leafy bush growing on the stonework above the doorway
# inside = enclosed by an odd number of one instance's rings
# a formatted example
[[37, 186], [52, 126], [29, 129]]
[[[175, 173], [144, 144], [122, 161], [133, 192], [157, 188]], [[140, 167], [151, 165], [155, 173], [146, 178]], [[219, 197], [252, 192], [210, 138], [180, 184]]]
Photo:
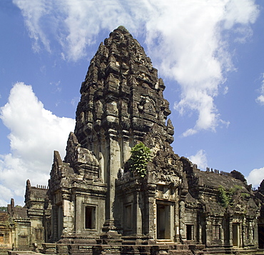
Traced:
[[142, 142], [131, 149], [131, 157], [128, 160], [129, 170], [138, 173], [141, 177], [146, 176], [146, 166], [151, 159], [151, 150]]

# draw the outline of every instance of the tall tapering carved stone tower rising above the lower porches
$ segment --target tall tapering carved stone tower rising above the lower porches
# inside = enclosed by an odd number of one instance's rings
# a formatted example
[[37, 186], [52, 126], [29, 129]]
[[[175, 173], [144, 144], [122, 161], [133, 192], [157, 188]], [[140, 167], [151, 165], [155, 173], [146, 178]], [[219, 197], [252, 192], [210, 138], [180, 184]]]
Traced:
[[107, 184], [108, 229], [115, 229], [115, 181], [131, 147], [144, 140], [154, 151], [166, 151], [173, 141], [171, 121], [166, 124], [171, 111], [157, 73], [138, 41], [119, 26], [100, 44], [81, 85], [74, 134], [100, 164], [100, 177]]

